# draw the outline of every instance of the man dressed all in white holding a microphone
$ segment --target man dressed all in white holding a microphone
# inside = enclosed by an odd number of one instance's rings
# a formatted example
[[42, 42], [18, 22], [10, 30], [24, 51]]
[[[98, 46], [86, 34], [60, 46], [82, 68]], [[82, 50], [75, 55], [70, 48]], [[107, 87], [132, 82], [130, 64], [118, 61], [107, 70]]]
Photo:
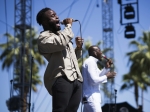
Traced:
[[83, 75], [83, 112], [102, 112], [100, 83], [107, 82], [107, 79], [114, 78], [116, 73], [110, 72], [112, 61], [109, 59], [105, 67], [100, 70], [97, 62], [102, 58], [102, 52], [98, 46], [91, 46], [88, 49], [89, 57], [82, 66]]

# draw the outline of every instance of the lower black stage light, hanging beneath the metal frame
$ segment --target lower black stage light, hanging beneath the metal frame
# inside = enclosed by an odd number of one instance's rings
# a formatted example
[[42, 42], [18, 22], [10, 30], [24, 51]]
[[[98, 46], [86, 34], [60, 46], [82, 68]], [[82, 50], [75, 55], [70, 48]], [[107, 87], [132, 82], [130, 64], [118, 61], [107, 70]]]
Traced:
[[132, 26], [132, 24], [128, 24], [126, 27], [125, 27], [125, 37], [126, 38], [135, 38], [135, 29], [134, 29], [134, 26]]

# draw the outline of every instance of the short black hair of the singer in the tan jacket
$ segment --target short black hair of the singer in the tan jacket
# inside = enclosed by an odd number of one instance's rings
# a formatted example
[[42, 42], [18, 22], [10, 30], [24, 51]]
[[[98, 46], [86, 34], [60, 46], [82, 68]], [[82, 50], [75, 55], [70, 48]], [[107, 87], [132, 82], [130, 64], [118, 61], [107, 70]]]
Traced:
[[46, 11], [48, 11], [48, 10], [52, 10], [52, 9], [46, 7], [46, 8], [41, 9], [41, 10], [38, 12], [38, 14], [37, 14], [37, 16], [36, 16], [36, 21], [37, 21], [37, 23], [38, 23], [39, 25], [42, 24], [42, 21], [43, 21], [43, 19], [44, 19], [44, 13], [45, 13]]

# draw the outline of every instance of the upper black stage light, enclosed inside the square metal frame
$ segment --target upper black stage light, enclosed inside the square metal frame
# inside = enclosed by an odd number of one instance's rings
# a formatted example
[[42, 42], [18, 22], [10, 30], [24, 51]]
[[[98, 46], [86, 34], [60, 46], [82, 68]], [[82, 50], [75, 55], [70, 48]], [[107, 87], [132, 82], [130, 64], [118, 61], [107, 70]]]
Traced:
[[126, 19], [135, 18], [135, 11], [134, 11], [134, 8], [131, 6], [131, 4], [127, 4], [127, 6], [125, 7], [124, 17]]

